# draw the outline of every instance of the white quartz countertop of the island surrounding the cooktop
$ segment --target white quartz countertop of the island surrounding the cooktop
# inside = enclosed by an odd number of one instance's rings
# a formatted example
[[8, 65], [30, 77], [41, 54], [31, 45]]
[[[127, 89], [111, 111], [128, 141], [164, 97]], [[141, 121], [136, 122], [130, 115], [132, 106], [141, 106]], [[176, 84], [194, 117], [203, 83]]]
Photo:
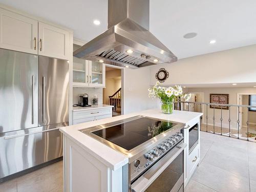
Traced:
[[111, 123], [114, 121], [134, 117], [137, 115], [143, 115], [147, 117], [153, 117], [187, 124], [189, 121], [193, 121], [195, 120], [195, 118], [199, 118], [203, 114], [186, 111], [174, 111], [173, 114], [166, 115], [163, 114], [159, 109], [152, 109], [131, 113], [127, 115], [120, 115], [116, 117], [100, 119], [97, 121], [65, 126], [61, 127], [60, 131], [73, 142], [81, 146], [88, 153], [90, 153], [99, 161], [104, 163], [106, 166], [110, 167], [113, 170], [116, 170], [129, 162], [128, 157], [121, 154], [120, 152], [113, 150], [109, 146], [104, 145], [103, 143], [97, 141], [96, 139], [80, 132], [79, 130], [83, 130], [100, 124]]

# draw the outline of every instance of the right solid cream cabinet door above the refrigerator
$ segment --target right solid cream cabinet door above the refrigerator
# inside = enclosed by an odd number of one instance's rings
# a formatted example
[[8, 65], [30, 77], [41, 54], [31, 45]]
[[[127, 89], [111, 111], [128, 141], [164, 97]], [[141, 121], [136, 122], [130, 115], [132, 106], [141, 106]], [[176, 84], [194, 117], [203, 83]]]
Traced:
[[38, 22], [38, 54], [69, 59], [69, 32]]

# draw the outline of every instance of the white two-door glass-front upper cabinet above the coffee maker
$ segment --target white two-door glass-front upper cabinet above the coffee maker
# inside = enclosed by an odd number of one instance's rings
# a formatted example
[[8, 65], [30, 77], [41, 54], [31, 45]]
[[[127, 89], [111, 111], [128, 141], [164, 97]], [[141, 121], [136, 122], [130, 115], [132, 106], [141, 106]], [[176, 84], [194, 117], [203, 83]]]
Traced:
[[73, 57], [73, 87], [105, 87], [105, 64]]

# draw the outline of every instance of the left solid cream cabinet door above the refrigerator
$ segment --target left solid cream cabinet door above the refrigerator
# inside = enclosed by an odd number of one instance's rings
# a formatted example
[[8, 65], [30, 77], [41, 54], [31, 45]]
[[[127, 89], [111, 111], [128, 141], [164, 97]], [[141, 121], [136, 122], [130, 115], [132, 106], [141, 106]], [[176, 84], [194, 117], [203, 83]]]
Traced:
[[37, 54], [38, 22], [0, 9], [0, 48]]

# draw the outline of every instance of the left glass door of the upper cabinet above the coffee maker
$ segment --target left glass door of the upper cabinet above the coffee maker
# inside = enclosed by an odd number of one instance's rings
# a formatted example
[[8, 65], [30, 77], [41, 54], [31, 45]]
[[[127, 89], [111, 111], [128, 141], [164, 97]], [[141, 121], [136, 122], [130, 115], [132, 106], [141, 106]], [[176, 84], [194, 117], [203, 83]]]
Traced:
[[[81, 46], [73, 45], [73, 51]], [[73, 57], [73, 86], [89, 86], [89, 61], [82, 58]]]

